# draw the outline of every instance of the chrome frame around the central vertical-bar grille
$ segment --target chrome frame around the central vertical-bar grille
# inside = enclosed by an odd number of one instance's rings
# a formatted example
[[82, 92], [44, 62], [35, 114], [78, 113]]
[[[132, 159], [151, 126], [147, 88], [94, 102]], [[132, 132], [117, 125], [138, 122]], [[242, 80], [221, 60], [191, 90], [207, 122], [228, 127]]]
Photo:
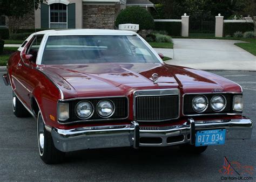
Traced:
[[[170, 92], [170, 93], [165, 93], [165, 94], [157, 94], [156, 92]], [[152, 94], [143, 94], [140, 95], [139, 92], [152, 92]], [[166, 95], [178, 95], [178, 117], [176, 118], [171, 118], [167, 120], [154, 120], [154, 121], [149, 121], [149, 120], [136, 120], [136, 97], [139, 96], [166, 96]], [[139, 122], [160, 122], [160, 121], [170, 121], [170, 120], [177, 120], [180, 117], [180, 90], [178, 88], [167, 88], [167, 89], [148, 89], [148, 90], [135, 90], [133, 92], [133, 120], [134, 121], [139, 121]]]

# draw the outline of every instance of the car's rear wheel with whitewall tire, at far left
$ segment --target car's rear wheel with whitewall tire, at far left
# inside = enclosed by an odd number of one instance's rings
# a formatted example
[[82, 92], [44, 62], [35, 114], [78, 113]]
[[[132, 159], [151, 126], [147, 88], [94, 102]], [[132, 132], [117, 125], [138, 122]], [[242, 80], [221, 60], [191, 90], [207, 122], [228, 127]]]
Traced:
[[21, 101], [19, 101], [18, 97], [15, 95], [14, 91], [12, 91], [12, 110], [14, 111], [14, 115], [16, 117], [29, 117], [31, 114], [28, 110], [23, 106]]

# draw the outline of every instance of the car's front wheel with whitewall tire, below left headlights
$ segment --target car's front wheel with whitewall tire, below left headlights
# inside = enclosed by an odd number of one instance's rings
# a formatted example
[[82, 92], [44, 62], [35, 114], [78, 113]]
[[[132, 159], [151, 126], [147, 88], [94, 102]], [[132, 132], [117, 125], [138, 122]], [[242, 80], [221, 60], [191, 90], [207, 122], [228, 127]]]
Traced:
[[39, 154], [46, 164], [61, 163], [65, 157], [65, 152], [59, 151], [53, 144], [51, 133], [46, 131], [43, 117], [39, 111], [37, 117], [37, 138]]

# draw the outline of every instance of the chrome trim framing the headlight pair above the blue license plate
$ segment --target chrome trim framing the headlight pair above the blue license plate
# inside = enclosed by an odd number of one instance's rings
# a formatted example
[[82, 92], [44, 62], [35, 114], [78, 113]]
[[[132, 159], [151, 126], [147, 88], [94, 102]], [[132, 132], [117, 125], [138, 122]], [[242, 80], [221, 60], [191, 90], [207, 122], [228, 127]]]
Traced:
[[213, 114], [184, 114], [184, 96], [185, 95], [197, 95], [197, 94], [239, 94], [241, 92], [206, 92], [206, 93], [186, 93], [182, 96], [182, 115], [183, 116], [209, 116], [209, 115], [242, 115], [242, 113], [213, 113]]

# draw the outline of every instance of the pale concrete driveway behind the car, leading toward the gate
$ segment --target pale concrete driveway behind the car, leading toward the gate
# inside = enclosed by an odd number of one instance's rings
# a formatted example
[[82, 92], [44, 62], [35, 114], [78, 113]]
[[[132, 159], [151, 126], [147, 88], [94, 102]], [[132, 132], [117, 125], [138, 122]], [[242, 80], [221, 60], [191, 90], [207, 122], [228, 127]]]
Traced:
[[[256, 57], [235, 46], [240, 40], [173, 39], [174, 50], [155, 48], [173, 58], [167, 64], [196, 69], [225, 69], [256, 71]], [[174, 51], [174, 55], [173, 55]]]

